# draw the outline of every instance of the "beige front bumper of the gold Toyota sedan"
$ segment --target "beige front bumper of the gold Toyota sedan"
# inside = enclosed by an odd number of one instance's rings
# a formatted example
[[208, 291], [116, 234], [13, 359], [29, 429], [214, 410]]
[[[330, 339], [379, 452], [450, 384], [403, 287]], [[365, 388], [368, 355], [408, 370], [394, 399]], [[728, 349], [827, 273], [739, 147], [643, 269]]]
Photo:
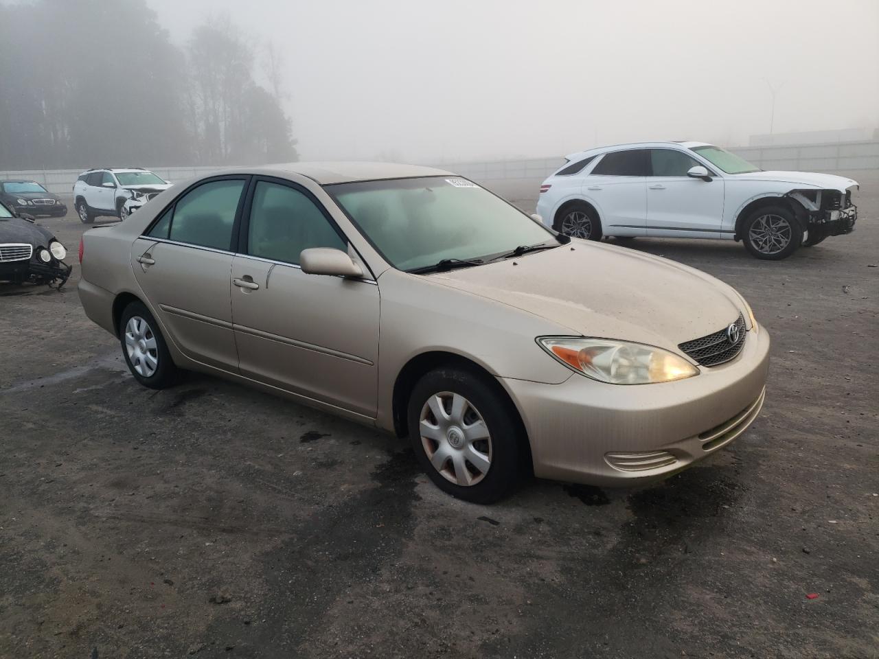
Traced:
[[763, 405], [769, 335], [693, 378], [620, 386], [572, 373], [562, 384], [500, 379], [521, 413], [534, 475], [606, 487], [666, 478], [729, 444]]

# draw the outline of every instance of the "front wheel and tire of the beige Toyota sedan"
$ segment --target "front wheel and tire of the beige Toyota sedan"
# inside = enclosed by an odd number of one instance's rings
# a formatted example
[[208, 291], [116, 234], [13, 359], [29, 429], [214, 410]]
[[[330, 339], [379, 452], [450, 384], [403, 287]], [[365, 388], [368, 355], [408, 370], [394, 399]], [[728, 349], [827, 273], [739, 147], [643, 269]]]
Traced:
[[458, 367], [425, 373], [406, 418], [418, 461], [447, 494], [493, 503], [522, 482], [529, 464], [524, 431], [512, 402], [483, 375]]

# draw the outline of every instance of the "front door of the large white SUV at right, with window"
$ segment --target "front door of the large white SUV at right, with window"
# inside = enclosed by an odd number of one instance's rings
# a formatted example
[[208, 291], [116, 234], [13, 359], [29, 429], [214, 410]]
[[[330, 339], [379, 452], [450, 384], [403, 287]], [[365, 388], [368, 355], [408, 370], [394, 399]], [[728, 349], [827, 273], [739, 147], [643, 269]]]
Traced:
[[650, 165], [647, 235], [723, 237], [723, 178], [688, 177], [687, 170], [701, 163], [672, 148], [650, 149]]

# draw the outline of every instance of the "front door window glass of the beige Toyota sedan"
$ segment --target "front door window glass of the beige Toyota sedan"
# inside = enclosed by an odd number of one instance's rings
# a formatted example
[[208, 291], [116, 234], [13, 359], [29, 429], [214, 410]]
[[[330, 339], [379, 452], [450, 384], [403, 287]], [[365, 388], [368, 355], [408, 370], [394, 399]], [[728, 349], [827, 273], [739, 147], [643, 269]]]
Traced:
[[302, 250], [347, 244], [308, 195], [287, 185], [259, 181], [253, 194], [247, 252], [299, 264]]

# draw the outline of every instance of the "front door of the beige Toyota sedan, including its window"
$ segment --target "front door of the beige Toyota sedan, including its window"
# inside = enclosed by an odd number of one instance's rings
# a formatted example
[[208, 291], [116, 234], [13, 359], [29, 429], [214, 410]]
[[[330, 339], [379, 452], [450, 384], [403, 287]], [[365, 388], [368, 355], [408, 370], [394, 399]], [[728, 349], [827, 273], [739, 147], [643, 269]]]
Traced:
[[323, 206], [298, 185], [259, 179], [232, 262], [241, 373], [375, 416], [379, 288], [371, 279], [302, 272], [311, 247], [349, 250]]

